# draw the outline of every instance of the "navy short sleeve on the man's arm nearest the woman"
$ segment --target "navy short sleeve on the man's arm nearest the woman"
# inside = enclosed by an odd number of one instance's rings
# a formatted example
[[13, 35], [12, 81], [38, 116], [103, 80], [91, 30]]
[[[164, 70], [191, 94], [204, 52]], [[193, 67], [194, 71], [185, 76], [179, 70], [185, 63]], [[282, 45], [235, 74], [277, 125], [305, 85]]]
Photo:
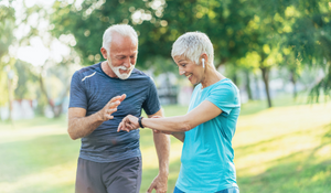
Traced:
[[154, 82], [149, 78], [149, 90], [146, 100], [142, 104], [142, 108], [147, 115], [154, 115], [161, 109], [159, 101], [159, 95]]

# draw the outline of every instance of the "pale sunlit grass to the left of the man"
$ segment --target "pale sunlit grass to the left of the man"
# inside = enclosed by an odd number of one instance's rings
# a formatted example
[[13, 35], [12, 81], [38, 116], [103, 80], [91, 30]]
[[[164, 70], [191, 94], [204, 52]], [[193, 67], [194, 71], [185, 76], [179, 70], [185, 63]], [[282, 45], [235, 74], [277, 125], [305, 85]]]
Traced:
[[66, 119], [35, 118], [0, 124], [1, 192], [73, 192], [79, 141]]

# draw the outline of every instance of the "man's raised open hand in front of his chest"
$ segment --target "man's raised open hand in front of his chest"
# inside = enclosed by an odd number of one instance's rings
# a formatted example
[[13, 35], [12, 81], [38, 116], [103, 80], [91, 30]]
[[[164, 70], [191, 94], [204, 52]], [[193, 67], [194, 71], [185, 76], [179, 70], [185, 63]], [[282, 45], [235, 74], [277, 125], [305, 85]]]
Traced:
[[126, 94], [122, 94], [121, 96], [113, 97], [107, 105], [98, 111], [99, 118], [103, 121], [113, 119], [114, 116], [111, 114], [117, 111], [117, 107], [120, 105], [120, 103], [127, 97]]

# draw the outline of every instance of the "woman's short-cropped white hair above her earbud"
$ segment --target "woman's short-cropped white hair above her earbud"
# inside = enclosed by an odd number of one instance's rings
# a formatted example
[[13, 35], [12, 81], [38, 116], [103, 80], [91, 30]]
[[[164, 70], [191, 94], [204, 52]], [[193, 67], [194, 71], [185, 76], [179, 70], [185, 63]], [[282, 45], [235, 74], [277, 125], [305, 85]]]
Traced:
[[202, 32], [186, 32], [172, 44], [171, 56], [184, 55], [199, 65], [201, 54], [209, 56], [209, 64], [214, 66], [214, 49], [209, 36]]

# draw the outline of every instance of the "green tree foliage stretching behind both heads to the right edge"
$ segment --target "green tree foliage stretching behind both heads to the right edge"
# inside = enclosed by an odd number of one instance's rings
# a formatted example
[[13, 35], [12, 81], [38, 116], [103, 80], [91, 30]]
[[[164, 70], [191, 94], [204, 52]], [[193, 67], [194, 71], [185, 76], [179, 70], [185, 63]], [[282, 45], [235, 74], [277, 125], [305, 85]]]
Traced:
[[330, 90], [330, 9], [327, 0], [56, 1], [51, 22], [55, 36], [73, 39], [70, 44], [84, 65], [102, 60], [102, 36], [109, 25], [129, 23], [139, 33], [138, 65], [156, 72], [175, 71], [170, 52], [178, 36], [205, 32], [216, 67], [231, 65], [234, 81], [237, 71], [249, 77], [260, 69], [271, 107], [268, 82], [275, 66], [291, 72], [293, 83], [302, 66], [321, 66], [327, 76], [317, 85]]

